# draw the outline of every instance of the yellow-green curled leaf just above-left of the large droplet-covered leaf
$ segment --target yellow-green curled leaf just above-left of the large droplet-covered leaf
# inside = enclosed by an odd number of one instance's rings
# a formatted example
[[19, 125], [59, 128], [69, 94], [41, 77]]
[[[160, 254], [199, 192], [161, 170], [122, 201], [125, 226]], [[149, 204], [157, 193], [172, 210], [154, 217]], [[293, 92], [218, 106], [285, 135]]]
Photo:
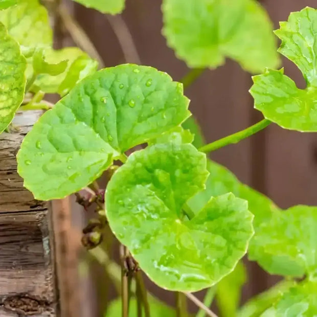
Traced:
[[[93, 74], [97, 70], [97, 61], [91, 59], [86, 53], [78, 48], [64, 48], [62, 50], [46, 49], [44, 52], [45, 60], [50, 64], [60, 64], [67, 60], [65, 70], [53, 74], [41, 74], [37, 76], [35, 85], [43, 92], [54, 94], [59, 93], [61, 96], [67, 94], [76, 83], [83, 78]], [[33, 61], [34, 71], [37, 72], [37, 61]], [[37, 72], [42, 73], [42, 72]]]

